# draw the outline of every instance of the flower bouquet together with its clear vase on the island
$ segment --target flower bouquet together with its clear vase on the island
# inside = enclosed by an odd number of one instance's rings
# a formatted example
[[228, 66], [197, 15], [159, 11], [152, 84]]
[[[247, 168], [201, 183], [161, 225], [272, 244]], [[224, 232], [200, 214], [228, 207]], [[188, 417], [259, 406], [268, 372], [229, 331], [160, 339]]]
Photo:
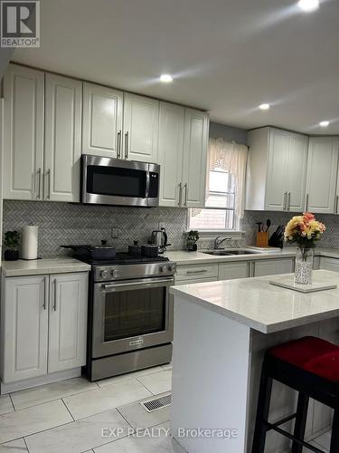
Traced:
[[326, 227], [315, 220], [310, 212], [292, 217], [285, 228], [285, 241], [297, 244], [295, 283], [312, 284], [312, 270], [315, 243], [320, 239]]

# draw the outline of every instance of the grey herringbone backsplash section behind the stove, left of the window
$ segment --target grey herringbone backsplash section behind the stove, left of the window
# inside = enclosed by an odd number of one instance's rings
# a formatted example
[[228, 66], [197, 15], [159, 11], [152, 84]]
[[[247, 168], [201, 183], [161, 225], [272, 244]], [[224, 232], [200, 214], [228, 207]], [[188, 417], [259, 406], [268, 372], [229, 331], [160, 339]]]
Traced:
[[[142, 208], [85, 206], [37, 201], [4, 201], [4, 232], [20, 231], [29, 223], [39, 226], [39, 255], [58, 256], [70, 252], [61, 248], [69, 244], [100, 244], [101, 239], [126, 249], [134, 240], [145, 244], [159, 222], [165, 224], [172, 249], [184, 247], [185, 208]], [[111, 228], [118, 228], [112, 239]]]

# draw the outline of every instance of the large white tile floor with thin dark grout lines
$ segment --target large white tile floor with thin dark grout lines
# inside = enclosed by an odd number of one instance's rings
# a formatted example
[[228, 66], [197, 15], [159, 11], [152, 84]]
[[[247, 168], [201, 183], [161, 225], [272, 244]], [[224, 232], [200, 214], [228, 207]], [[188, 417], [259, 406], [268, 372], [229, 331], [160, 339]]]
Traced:
[[[147, 413], [139, 404], [168, 394], [171, 381], [172, 367], [164, 365], [0, 396], [0, 453], [184, 453], [166, 435], [169, 408]], [[329, 442], [330, 432], [313, 441], [327, 450]]]

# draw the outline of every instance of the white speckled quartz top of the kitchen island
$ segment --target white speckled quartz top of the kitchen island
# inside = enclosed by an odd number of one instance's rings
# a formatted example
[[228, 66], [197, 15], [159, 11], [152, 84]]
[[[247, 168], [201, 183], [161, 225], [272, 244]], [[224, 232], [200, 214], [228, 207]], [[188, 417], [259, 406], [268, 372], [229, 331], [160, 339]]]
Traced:
[[[332, 290], [303, 294], [269, 284], [278, 275], [172, 286], [170, 292], [261, 333], [273, 333], [339, 316], [339, 273], [319, 270], [314, 281]], [[179, 302], [180, 303], [180, 302]]]

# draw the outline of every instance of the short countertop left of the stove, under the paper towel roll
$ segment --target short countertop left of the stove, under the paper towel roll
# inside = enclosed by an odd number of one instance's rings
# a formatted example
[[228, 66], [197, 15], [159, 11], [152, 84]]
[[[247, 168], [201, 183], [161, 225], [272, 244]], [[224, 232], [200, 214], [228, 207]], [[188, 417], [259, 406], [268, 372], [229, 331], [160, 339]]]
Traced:
[[89, 271], [90, 265], [74, 258], [50, 258], [33, 261], [3, 261], [2, 273], [6, 277], [20, 275], [67, 274]]

